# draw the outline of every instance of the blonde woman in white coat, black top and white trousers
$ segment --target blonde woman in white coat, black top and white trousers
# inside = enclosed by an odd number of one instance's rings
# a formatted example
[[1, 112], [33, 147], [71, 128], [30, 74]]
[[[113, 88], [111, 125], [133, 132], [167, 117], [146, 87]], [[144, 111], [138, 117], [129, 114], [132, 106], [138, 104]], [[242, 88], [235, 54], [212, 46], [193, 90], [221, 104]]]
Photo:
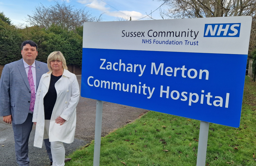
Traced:
[[51, 142], [53, 166], [63, 166], [64, 143], [72, 143], [76, 129], [76, 105], [79, 85], [75, 74], [67, 69], [60, 51], [52, 52], [47, 59], [50, 70], [42, 75], [36, 93], [33, 122], [34, 146], [42, 148], [43, 139]]

